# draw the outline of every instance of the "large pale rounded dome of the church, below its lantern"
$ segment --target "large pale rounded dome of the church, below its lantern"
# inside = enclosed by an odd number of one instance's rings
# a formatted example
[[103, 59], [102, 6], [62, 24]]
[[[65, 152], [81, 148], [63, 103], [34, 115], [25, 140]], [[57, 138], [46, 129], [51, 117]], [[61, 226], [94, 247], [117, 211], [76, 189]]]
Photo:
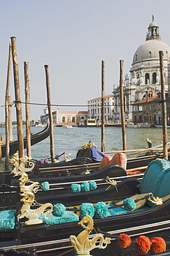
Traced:
[[166, 43], [156, 39], [144, 42], [135, 51], [133, 63], [147, 59], [159, 59], [159, 51], [163, 51], [165, 59], [170, 57], [170, 47]]

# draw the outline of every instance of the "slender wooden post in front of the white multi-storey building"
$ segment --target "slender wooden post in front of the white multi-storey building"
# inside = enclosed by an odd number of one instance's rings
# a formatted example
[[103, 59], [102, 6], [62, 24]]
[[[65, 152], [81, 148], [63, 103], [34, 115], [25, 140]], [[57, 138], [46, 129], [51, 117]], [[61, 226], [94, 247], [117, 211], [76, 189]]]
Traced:
[[105, 124], [104, 65], [105, 65], [105, 62], [104, 62], [104, 60], [102, 60], [102, 143], [101, 143], [101, 151], [102, 152], [105, 152], [105, 134], [104, 134], [104, 124]]

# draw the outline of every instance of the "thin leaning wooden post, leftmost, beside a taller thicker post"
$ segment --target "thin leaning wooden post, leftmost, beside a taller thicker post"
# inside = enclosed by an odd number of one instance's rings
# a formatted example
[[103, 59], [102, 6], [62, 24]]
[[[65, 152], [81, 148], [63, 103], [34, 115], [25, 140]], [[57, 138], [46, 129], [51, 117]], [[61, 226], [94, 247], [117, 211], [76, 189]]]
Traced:
[[10, 91], [10, 71], [12, 62], [12, 50], [11, 44], [9, 45], [9, 55], [8, 55], [8, 71], [6, 80], [6, 163], [5, 169], [8, 170], [9, 153], [10, 153], [10, 117], [9, 117], [9, 91]]

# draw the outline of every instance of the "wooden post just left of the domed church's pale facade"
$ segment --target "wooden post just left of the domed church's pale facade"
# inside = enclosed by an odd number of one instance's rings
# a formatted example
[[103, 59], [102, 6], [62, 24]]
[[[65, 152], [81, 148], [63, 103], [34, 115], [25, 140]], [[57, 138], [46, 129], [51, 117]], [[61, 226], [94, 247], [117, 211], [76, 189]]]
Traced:
[[123, 60], [120, 60], [120, 110], [122, 119], [122, 143], [123, 150], [126, 150], [126, 126], [124, 120], [124, 89], [123, 89]]

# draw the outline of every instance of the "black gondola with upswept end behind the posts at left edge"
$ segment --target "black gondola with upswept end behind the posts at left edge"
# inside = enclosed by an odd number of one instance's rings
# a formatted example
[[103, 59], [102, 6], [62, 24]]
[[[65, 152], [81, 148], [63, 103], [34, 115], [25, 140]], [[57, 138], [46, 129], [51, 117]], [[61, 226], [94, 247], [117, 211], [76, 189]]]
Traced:
[[[31, 134], [30, 136], [30, 143], [31, 145], [35, 145], [39, 143], [41, 140], [44, 140], [50, 135], [50, 125], [49, 122], [47, 123], [46, 127], [39, 131], [37, 134]], [[23, 138], [23, 147], [26, 149], [26, 137]], [[19, 150], [19, 144], [18, 140], [12, 140], [10, 141], [10, 156], [15, 154]], [[1, 143], [1, 152], [2, 152], [2, 158], [6, 156], [6, 143]]]

